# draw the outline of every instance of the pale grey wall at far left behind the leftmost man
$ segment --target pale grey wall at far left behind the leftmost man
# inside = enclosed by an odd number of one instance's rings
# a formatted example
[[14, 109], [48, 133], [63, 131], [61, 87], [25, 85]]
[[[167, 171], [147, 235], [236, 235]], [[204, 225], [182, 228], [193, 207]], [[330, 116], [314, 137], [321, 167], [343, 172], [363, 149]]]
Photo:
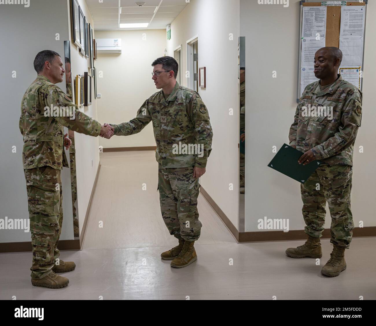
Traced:
[[[37, 74], [33, 68], [36, 54], [53, 50], [64, 60], [64, 40], [68, 39], [66, 1], [54, 6], [47, 0], [33, 0], [29, 8], [23, 5], [0, 5], [0, 60], [2, 98], [2, 128], [0, 142], [0, 218], [28, 219], [26, 181], [22, 165], [23, 138], [18, 129], [21, 100]], [[30, 33], [30, 29], [32, 32]], [[9, 31], [9, 32], [5, 32]], [[60, 34], [56, 41], [55, 34]], [[16, 71], [16, 78], [12, 78]], [[65, 83], [57, 84], [65, 92]], [[16, 146], [16, 153], [12, 153]], [[70, 171], [62, 170], [64, 220], [60, 239], [73, 239], [73, 212]], [[23, 230], [0, 230], [0, 242], [30, 241], [30, 233]]]

